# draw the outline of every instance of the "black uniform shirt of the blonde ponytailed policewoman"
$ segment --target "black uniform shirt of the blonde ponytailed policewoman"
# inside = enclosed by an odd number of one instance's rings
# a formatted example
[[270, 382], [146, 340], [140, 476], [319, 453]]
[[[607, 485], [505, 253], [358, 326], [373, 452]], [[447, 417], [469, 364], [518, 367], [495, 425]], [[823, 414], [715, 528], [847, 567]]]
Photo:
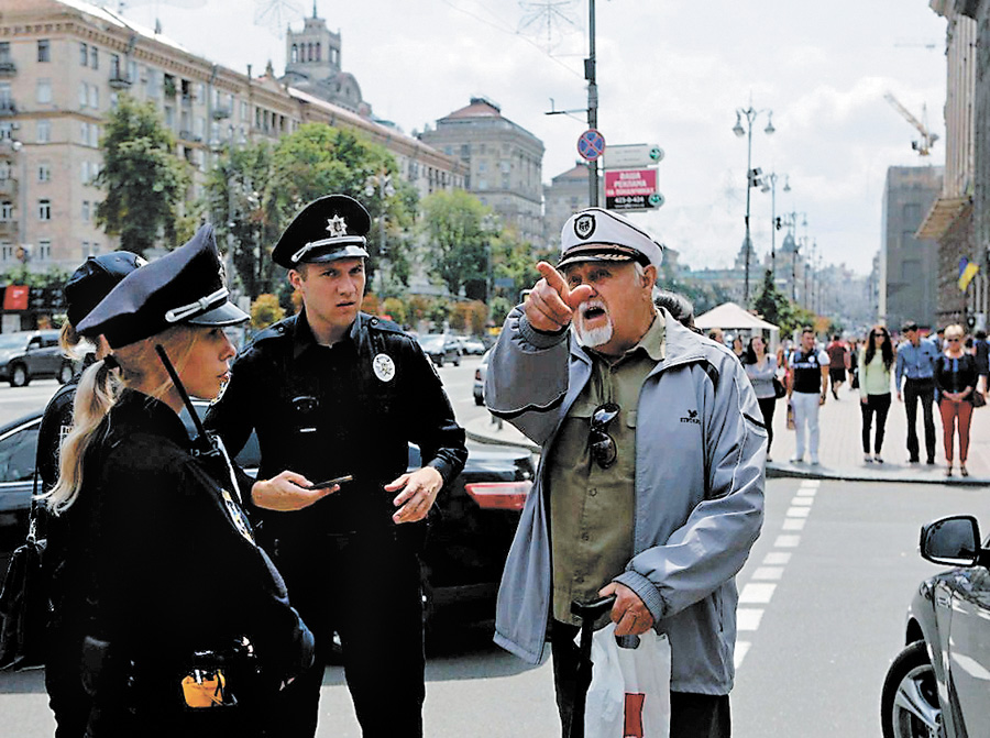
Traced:
[[125, 390], [95, 442], [79, 497], [50, 524], [52, 627], [108, 641], [148, 678], [242, 636], [275, 684], [308, 667], [312, 637], [253, 540], [242, 491], [207, 473], [172, 408]]

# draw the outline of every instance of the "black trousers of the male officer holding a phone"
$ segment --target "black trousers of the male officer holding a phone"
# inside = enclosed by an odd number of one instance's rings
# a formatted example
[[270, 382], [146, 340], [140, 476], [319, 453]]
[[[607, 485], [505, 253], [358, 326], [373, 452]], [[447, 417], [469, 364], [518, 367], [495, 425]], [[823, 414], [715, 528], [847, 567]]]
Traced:
[[426, 697], [419, 560], [392, 538], [279, 542], [289, 599], [317, 639], [317, 664], [280, 693], [272, 735], [316, 735], [323, 659], [340, 635], [364, 738], [419, 738]]

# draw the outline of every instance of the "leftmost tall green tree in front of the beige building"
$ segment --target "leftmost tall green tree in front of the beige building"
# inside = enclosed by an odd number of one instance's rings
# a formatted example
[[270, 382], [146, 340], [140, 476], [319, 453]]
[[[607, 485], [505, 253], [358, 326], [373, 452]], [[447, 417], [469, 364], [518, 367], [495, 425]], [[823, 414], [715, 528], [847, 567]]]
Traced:
[[95, 184], [106, 190], [96, 221], [120, 247], [143, 254], [160, 236], [176, 245], [176, 221], [189, 186], [189, 167], [175, 156], [175, 140], [153, 103], [121, 95], [100, 140], [103, 168]]

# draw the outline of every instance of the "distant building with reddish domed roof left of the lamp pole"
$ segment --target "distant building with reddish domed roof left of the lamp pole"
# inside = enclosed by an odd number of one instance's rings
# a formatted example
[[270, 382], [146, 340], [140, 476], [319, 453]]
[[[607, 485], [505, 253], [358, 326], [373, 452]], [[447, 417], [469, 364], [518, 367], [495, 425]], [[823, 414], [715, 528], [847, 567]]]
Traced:
[[542, 141], [481, 97], [438, 120], [437, 128], [419, 139], [461, 162], [465, 188], [491, 207], [505, 228], [542, 245]]

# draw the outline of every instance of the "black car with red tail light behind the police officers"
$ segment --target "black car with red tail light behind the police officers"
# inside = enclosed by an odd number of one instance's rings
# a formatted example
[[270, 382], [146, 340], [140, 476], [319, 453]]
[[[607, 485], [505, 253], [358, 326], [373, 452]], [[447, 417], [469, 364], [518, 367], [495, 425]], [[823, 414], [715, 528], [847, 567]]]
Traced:
[[[206, 412], [206, 403], [196, 406]], [[193, 432], [186, 414], [183, 419]], [[40, 425], [38, 410], [0, 428], [0, 576], [10, 552], [26, 536]], [[253, 474], [260, 460], [257, 437], [252, 433], [237, 462]], [[421, 465], [419, 449], [410, 445], [409, 469]], [[469, 447], [464, 471], [437, 498], [421, 557], [428, 617], [441, 613], [464, 620], [493, 617], [505, 555], [532, 477], [526, 449]]]

